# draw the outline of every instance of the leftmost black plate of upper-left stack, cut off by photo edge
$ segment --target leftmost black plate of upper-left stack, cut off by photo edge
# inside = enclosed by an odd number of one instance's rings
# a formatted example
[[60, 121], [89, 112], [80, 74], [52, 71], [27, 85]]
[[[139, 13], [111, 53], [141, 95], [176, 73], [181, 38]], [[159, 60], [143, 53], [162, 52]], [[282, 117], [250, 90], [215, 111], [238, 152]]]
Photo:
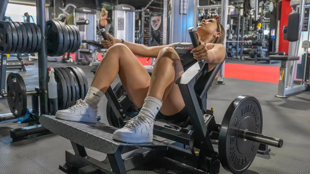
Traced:
[[10, 53], [13, 44], [13, 33], [8, 22], [0, 21], [0, 53]]

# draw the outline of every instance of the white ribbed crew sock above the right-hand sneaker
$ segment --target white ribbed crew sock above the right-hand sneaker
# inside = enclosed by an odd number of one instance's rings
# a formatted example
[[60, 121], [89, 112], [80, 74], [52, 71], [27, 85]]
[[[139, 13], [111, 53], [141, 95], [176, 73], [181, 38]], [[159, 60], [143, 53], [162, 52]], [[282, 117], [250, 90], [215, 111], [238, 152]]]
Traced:
[[154, 120], [162, 107], [162, 102], [154, 97], [146, 97], [138, 115], [143, 115], [149, 120]]

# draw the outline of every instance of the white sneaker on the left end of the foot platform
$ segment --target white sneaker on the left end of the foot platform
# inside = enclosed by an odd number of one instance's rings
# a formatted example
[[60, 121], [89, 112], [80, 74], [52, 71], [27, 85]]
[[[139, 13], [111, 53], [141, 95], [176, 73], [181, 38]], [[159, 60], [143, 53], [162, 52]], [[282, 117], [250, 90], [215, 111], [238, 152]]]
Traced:
[[56, 118], [69, 121], [83, 121], [88, 123], [97, 122], [97, 108], [92, 109], [86, 101], [78, 99], [77, 103], [65, 110], [56, 112]]

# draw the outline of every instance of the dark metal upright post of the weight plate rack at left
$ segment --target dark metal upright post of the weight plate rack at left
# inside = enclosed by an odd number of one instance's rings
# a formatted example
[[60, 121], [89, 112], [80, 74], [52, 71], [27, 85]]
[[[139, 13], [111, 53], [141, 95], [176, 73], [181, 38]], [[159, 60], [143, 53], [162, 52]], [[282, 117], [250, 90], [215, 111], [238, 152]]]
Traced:
[[38, 52], [39, 88], [40, 88], [40, 114], [48, 114], [47, 95], [47, 47], [46, 47], [46, 13], [45, 0], [36, 0], [37, 24], [42, 33], [41, 49]]

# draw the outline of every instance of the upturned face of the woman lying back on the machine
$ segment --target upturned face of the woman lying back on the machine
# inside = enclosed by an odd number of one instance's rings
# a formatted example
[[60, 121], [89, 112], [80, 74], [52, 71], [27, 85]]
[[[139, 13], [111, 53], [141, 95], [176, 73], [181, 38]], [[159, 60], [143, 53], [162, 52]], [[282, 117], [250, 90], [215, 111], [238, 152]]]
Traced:
[[197, 26], [197, 32], [200, 36], [211, 34], [214, 35], [217, 32], [217, 21], [215, 19], [203, 19], [201, 23]]

